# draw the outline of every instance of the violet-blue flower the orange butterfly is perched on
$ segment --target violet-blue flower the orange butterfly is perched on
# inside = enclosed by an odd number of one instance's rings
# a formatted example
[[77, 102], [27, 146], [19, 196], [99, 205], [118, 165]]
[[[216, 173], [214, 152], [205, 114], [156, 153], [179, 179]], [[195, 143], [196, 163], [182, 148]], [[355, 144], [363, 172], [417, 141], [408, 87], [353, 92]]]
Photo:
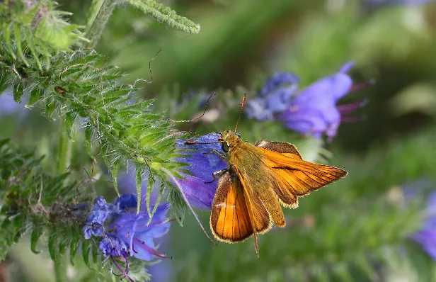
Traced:
[[[210, 133], [176, 142], [176, 147], [187, 156], [180, 157], [177, 161], [190, 165], [186, 167], [187, 173], [182, 174], [185, 179], [178, 179], [178, 182], [189, 203], [197, 208], [209, 210], [212, 208], [212, 201], [217, 191], [217, 180], [212, 178], [212, 174], [227, 168], [226, 162], [219, 156], [224, 152], [218, 139], [219, 133]], [[187, 141], [193, 144], [186, 144]]]

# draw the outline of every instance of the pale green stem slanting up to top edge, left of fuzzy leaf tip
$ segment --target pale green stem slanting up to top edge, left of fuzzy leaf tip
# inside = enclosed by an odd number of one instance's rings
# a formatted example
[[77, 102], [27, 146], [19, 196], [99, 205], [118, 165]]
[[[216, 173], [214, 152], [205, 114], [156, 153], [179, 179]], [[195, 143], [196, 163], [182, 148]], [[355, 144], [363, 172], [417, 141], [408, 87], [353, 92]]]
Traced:
[[89, 42], [84, 48], [94, 49], [100, 39], [101, 32], [115, 8], [116, 0], [93, 0], [88, 13], [85, 37]]

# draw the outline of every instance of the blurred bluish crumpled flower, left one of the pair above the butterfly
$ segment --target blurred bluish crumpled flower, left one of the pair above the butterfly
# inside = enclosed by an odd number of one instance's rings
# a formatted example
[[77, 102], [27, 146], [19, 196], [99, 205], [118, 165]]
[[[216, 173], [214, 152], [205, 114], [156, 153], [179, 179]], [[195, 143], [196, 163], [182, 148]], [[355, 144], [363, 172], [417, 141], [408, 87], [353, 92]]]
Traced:
[[[291, 105], [291, 96], [298, 90], [299, 78], [286, 72], [275, 72], [259, 91], [259, 98], [247, 101], [248, 118], [272, 120], [275, 113], [285, 111]], [[283, 86], [283, 84], [287, 86]]]

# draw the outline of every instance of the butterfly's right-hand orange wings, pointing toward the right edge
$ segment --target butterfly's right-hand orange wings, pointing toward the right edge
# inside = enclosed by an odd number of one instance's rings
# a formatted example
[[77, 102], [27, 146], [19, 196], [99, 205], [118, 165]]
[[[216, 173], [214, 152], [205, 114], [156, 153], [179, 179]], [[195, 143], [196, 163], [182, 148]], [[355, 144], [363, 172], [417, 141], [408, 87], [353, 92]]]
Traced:
[[289, 143], [263, 140], [256, 145], [263, 164], [277, 181], [275, 193], [288, 207], [298, 206], [298, 196], [306, 196], [348, 174], [337, 167], [304, 161], [297, 147]]

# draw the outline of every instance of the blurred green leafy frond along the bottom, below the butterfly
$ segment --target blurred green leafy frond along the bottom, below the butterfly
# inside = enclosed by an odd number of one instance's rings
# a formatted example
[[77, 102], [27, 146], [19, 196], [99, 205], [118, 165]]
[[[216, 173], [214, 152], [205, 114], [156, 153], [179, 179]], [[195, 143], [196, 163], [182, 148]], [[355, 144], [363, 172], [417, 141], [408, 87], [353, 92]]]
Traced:
[[[386, 205], [386, 198], [360, 204], [340, 205], [340, 212], [326, 206], [292, 213], [285, 230], [276, 229], [260, 236], [260, 257], [268, 264], [260, 264], [253, 256], [252, 239], [244, 244], [219, 244], [210, 260], [195, 257], [184, 261], [183, 271], [178, 272], [175, 281], [183, 277], [190, 277], [185, 281], [205, 281], [207, 277], [214, 277], [214, 281], [375, 278], [379, 276], [380, 264], [386, 262], [386, 252], [401, 256], [404, 238], [416, 229], [420, 220], [418, 207], [412, 205], [404, 210], [397, 204]], [[362, 210], [366, 212], [362, 214]], [[197, 268], [200, 270], [193, 271]]]

